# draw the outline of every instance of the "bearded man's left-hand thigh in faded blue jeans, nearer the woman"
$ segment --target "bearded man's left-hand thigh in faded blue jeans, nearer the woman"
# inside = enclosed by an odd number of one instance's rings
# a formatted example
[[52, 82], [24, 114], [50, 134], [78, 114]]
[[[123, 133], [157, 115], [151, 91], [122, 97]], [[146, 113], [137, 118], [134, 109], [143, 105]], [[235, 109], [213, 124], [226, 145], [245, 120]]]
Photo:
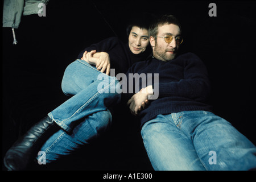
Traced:
[[144, 147], [155, 170], [205, 170], [191, 138], [170, 115], [158, 115], [141, 130]]

